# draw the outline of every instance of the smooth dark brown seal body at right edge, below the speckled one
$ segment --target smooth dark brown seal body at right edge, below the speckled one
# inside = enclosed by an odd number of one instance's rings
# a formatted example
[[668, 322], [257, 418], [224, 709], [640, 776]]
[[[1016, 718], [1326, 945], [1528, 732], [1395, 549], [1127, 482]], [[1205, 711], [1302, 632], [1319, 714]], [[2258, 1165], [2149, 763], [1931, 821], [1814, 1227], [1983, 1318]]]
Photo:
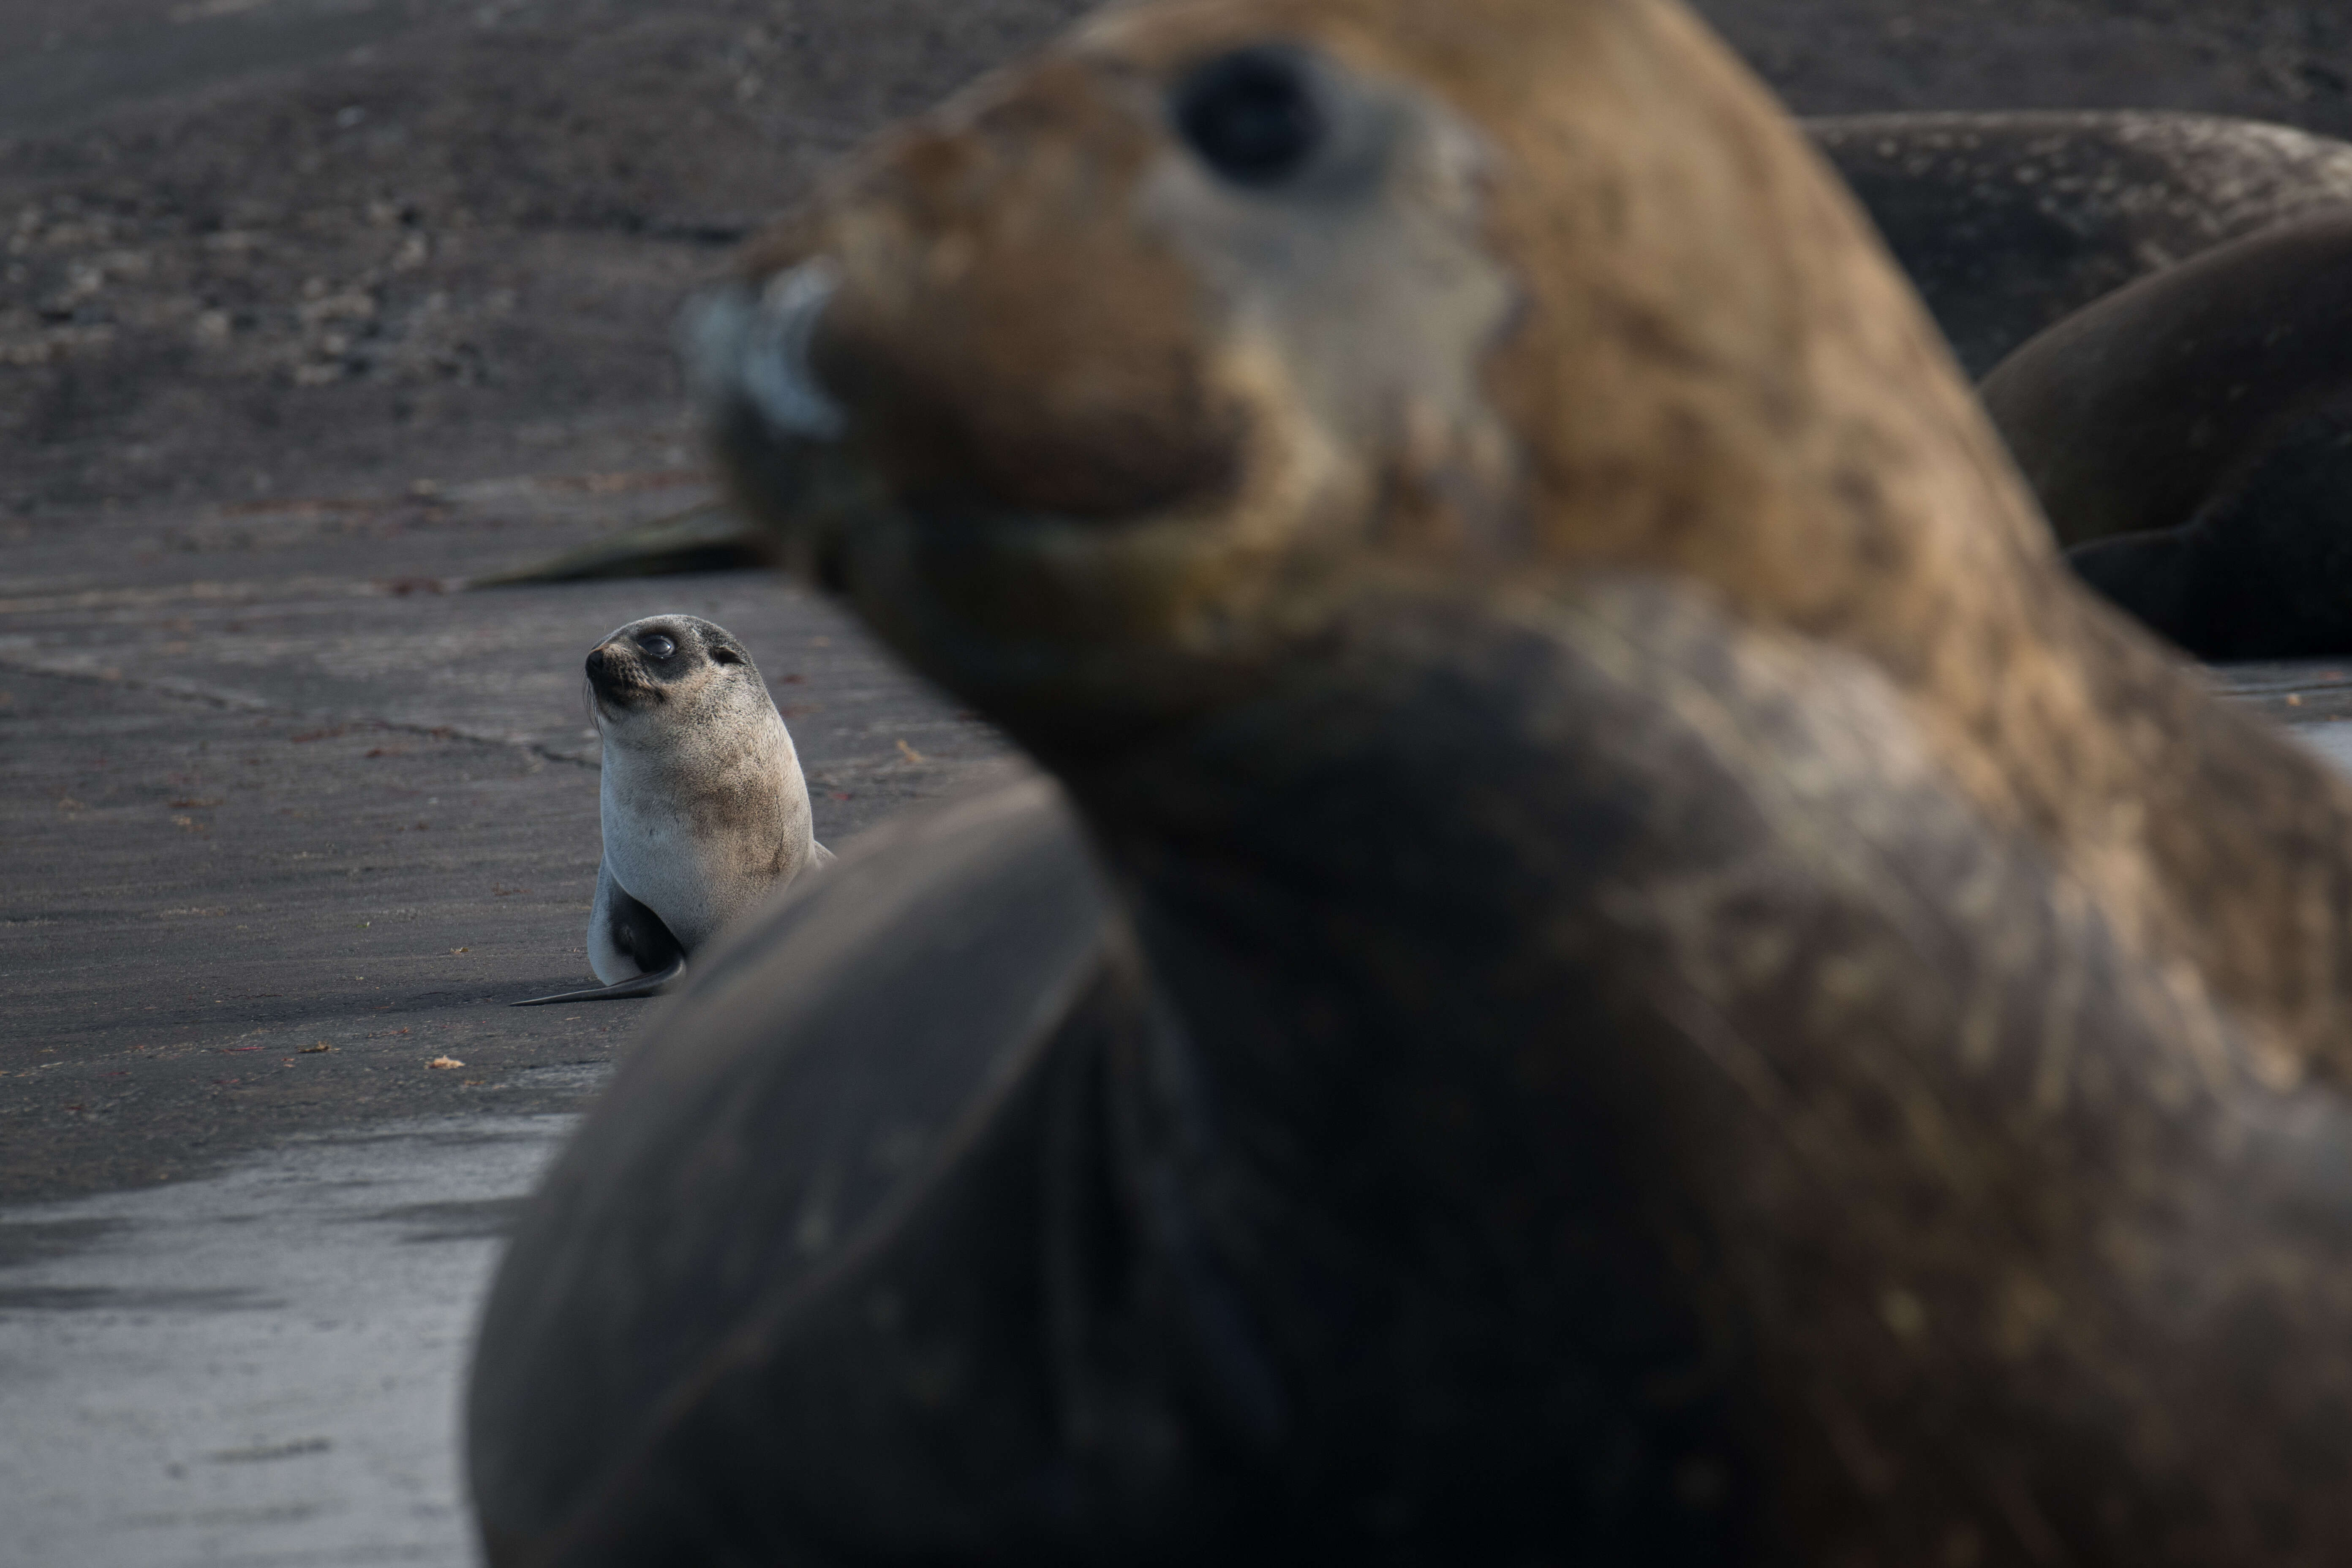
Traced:
[[2352, 654], [2352, 209], [2070, 315], [1980, 388], [2067, 559], [2201, 658]]

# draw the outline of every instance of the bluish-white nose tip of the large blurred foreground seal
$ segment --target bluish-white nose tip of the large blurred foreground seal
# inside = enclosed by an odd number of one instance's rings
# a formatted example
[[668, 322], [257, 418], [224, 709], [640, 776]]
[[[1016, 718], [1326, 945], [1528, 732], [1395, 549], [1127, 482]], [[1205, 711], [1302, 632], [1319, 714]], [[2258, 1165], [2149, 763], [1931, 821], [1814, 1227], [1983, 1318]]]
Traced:
[[835, 266], [814, 256], [764, 284], [729, 284], [687, 306], [680, 324], [687, 376], [706, 407], [748, 402], [783, 437], [837, 442], [849, 416], [809, 364]]

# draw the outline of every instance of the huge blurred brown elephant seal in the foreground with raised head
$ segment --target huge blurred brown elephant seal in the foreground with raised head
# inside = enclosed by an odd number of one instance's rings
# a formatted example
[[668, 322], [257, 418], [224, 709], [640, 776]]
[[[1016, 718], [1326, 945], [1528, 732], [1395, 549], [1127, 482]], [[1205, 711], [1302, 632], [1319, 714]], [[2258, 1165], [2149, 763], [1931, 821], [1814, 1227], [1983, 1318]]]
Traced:
[[713, 313], [746, 503], [1061, 795], [666, 1013], [496, 1563], [2340, 1556], [2352, 799], [1684, 12], [1110, 12]]

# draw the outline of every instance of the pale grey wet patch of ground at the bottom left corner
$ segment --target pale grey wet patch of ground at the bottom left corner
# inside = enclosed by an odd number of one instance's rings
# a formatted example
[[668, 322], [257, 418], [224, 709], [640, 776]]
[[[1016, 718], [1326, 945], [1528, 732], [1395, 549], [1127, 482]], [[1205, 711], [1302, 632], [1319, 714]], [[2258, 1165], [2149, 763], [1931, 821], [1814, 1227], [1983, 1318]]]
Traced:
[[5, 1211], [0, 1371], [40, 1441], [0, 1453], [0, 1561], [468, 1561], [475, 1298], [572, 1121], [393, 1121]]

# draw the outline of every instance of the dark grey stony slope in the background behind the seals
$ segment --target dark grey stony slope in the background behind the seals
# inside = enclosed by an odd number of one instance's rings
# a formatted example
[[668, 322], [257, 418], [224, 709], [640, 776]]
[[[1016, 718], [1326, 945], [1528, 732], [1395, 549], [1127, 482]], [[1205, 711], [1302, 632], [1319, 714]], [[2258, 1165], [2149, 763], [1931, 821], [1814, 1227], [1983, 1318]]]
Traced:
[[[0, 0], [0, 529], [694, 461], [668, 329], [1073, 0]], [[2352, 132], [2305, 0], [1705, 0], [1802, 113]]]

